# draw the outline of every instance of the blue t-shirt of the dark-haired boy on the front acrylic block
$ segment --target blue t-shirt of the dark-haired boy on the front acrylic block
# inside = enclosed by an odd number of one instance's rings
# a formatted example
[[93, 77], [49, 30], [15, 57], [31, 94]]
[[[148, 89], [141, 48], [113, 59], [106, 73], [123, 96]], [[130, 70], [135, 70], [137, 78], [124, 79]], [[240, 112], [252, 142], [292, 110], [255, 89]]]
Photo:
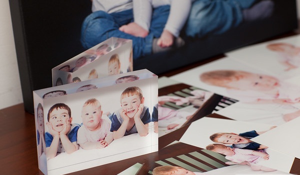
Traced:
[[[71, 129], [67, 134], [67, 138], [69, 139], [69, 141], [71, 143], [73, 142], [77, 142], [77, 131], [79, 129], [79, 125], [78, 124], [72, 124], [71, 125]], [[51, 146], [51, 143], [53, 141], [53, 136], [46, 132], [45, 133], [45, 144], [46, 144], [46, 148]], [[58, 150], [57, 153], [62, 153], [64, 152], [64, 148], [61, 145], [60, 139], [59, 139], [59, 144], [58, 144]]]

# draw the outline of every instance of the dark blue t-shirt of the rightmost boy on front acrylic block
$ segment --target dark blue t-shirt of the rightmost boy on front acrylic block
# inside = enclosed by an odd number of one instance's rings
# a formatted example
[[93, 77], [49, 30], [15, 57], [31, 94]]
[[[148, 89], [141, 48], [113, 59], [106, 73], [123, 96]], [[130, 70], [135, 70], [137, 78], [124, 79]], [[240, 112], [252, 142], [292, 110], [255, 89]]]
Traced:
[[[147, 123], [151, 122], [149, 109], [147, 107], [143, 108], [143, 110], [140, 114], [140, 120], [142, 121], [143, 124], [147, 124]], [[123, 119], [120, 116], [120, 113], [118, 111], [114, 112], [112, 114], [112, 118], [111, 118], [110, 132], [117, 131], [120, 128], [122, 123], [123, 123]], [[133, 133], [137, 133], [137, 129], [135, 127], [135, 124], [132, 126], [130, 131], [125, 132], [124, 136], [130, 135], [130, 134], [133, 134]]]

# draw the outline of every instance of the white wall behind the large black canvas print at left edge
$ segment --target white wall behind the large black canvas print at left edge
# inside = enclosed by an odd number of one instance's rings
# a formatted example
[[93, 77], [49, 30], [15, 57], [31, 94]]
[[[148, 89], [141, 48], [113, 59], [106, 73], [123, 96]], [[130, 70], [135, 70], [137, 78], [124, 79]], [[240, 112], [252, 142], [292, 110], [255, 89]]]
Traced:
[[[300, 0], [297, 8], [300, 9]], [[8, 0], [0, 0], [0, 53], [0, 109], [3, 109], [23, 102]]]

